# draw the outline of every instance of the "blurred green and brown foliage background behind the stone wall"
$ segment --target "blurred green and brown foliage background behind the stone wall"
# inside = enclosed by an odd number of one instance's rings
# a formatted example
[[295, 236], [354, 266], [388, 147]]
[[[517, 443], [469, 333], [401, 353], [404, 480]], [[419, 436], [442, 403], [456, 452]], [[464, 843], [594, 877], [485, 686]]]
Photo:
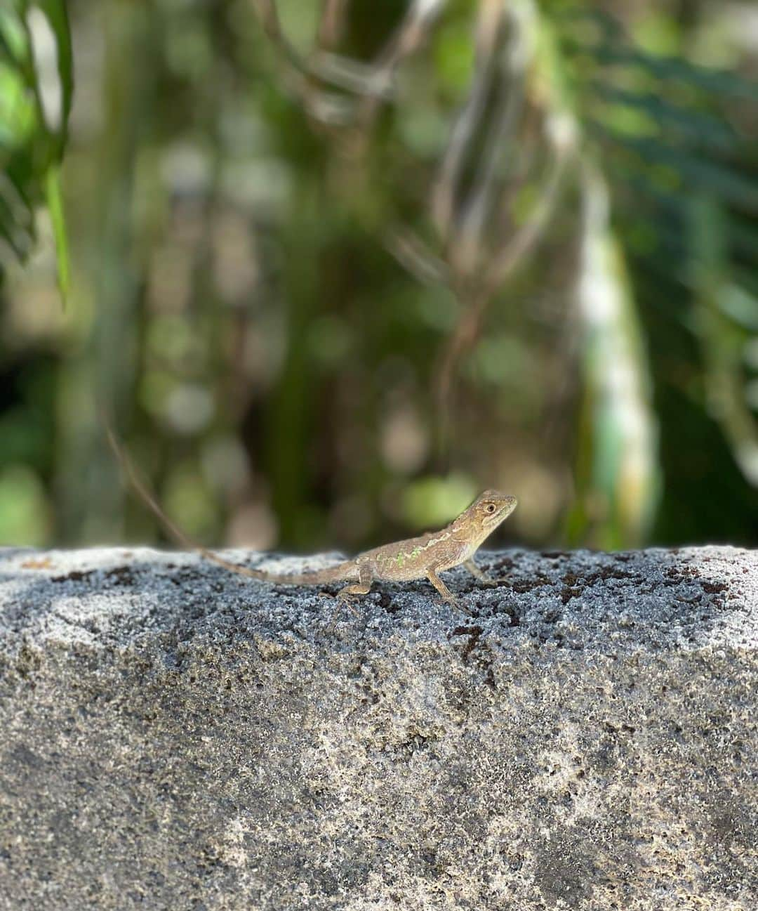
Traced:
[[758, 544], [753, 0], [2, 0], [0, 543]]

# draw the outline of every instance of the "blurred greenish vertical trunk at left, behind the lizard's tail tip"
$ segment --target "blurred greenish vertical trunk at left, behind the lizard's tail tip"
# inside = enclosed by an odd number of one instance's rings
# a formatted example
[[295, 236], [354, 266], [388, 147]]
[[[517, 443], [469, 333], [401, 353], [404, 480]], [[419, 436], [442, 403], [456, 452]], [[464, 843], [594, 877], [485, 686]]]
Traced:
[[[135, 396], [145, 269], [136, 255], [134, 187], [137, 154], [152, 130], [160, 47], [152, 5], [108, 0], [104, 6], [98, 203], [87, 243], [92, 259], [85, 263], [92, 276], [93, 323], [82, 357], [63, 368], [59, 399], [59, 537], [78, 543], [117, 539], [123, 527], [123, 485], [107, 448], [101, 410], [121, 425]], [[147, 251], [147, 245], [139, 249]]]

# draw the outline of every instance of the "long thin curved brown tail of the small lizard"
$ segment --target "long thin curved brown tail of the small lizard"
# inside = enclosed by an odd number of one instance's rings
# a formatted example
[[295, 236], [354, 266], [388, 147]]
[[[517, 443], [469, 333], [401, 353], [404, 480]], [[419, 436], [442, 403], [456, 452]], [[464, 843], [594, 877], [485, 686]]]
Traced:
[[138, 475], [136, 467], [129, 458], [125, 447], [116, 439], [116, 434], [107, 422], [106, 434], [108, 443], [116, 454], [118, 463], [126, 474], [129, 484], [134, 487], [139, 498], [145, 503], [155, 517], [157, 517], [157, 520], [161, 525], [166, 528], [168, 534], [173, 537], [181, 547], [188, 548], [189, 550], [197, 550], [197, 553], [201, 556], [211, 560], [220, 567], [228, 569], [229, 572], [238, 573], [240, 576], [248, 576], [248, 578], [258, 578], [264, 582], [277, 582], [285, 585], [319, 585], [324, 582], [339, 581], [340, 579], [349, 578], [350, 576], [355, 575], [355, 567], [351, 563], [340, 563], [339, 566], [336, 567], [316, 569], [312, 572], [298, 573], [297, 575], [293, 574], [290, 576], [288, 574], [279, 575], [278, 573], [269, 573], [263, 569], [241, 567], [237, 563], [231, 563], [229, 560], [219, 557], [212, 550], [208, 550], [207, 548], [204, 548], [202, 544], [198, 544], [197, 541], [194, 541], [182, 531], [175, 522], [167, 517], [166, 513], [163, 511], [163, 507], [158, 503], [157, 497]]

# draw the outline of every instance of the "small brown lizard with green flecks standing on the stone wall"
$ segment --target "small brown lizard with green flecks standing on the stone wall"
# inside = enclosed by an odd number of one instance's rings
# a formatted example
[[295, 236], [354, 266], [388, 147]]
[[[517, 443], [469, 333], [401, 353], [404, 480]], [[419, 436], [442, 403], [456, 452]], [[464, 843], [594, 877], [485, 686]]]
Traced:
[[419, 537], [383, 544], [359, 553], [356, 557], [343, 560], [336, 566], [313, 569], [303, 573], [277, 573], [267, 569], [253, 569], [232, 563], [217, 553], [191, 540], [169, 517], [137, 475], [136, 469], [126, 450], [116, 440], [110, 427], [107, 428], [110, 445], [121, 463], [131, 486], [137, 495], [166, 527], [172, 537], [183, 547], [196, 550], [202, 557], [211, 560], [229, 572], [262, 582], [278, 585], [323, 586], [332, 582], [347, 583], [339, 589], [337, 597], [348, 601], [354, 595], [368, 595], [374, 582], [409, 582], [426, 578], [440, 593], [443, 601], [455, 605], [457, 600], [440, 578], [440, 572], [461, 564], [470, 574], [487, 585], [497, 582], [483, 573], [474, 562], [474, 554], [487, 537], [510, 516], [518, 500], [499, 490], [485, 490], [460, 516], [439, 531], [430, 531]]

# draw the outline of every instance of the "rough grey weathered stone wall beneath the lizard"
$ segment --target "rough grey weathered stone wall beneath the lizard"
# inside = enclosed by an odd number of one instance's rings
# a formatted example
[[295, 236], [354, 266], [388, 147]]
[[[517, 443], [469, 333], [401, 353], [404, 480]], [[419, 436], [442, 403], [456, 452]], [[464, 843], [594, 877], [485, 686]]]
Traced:
[[753, 911], [758, 554], [480, 562], [0, 551], [0, 908]]

